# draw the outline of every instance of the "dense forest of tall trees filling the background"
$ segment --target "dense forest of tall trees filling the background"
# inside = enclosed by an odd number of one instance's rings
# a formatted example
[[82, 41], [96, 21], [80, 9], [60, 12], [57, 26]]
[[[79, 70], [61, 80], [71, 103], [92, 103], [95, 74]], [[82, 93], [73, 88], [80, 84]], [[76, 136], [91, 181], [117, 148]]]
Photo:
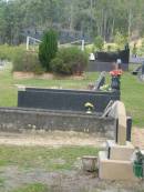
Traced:
[[37, 34], [52, 26], [104, 40], [117, 31], [134, 39], [143, 36], [143, 0], [0, 0], [0, 42], [19, 44], [25, 31]]

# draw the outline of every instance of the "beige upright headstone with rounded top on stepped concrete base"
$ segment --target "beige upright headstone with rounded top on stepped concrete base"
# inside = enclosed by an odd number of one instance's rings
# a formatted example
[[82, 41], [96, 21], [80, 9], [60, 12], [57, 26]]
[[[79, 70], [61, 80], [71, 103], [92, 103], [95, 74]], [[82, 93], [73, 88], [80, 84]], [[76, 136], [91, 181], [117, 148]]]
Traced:
[[134, 146], [126, 141], [126, 112], [124, 103], [116, 101], [111, 109], [111, 117], [117, 120], [115, 140], [106, 142], [105, 151], [99, 152], [99, 178], [105, 180], [137, 180], [131, 161]]

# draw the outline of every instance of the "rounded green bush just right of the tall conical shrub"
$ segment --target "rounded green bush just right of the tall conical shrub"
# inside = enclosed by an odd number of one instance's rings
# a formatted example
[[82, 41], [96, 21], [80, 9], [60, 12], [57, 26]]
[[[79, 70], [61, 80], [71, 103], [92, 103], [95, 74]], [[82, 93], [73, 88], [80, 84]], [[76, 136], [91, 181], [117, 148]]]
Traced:
[[81, 74], [88, 65], [88, 54], [78, 48], [62, 48], [51, 61], [51, 70], [60, 74]]

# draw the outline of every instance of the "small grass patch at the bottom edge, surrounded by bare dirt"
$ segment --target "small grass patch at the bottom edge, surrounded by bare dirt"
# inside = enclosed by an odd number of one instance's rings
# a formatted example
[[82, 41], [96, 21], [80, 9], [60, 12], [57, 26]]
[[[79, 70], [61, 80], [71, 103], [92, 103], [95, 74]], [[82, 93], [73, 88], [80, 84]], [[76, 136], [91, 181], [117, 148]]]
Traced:
[[12, 192], [49, 192], [49, 189], [45, 184], [33, 183], [16, 189]]

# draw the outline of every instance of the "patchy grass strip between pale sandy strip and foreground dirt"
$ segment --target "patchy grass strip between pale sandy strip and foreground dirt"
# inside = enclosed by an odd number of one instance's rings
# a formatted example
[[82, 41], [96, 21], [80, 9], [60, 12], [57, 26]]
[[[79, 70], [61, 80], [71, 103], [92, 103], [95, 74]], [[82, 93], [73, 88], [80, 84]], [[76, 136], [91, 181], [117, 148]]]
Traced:
[[40, 168], [49, 171], [71, 170], [83, 155], [96, 155], [93, 146], [6, 146], [0, 145], [0, 166]]

